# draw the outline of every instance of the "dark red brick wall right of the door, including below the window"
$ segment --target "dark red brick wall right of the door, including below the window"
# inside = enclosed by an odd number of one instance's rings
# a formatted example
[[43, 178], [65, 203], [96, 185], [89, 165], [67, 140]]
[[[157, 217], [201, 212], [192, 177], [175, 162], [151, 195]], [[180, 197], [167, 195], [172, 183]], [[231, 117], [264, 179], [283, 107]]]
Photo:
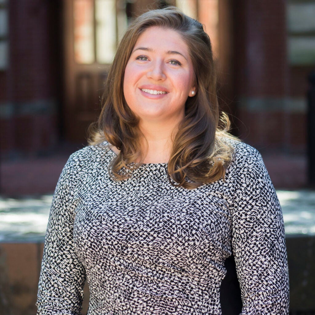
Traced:
[[238, 134], [258, 149], [306, 151], [307, 67], [287, 59], [286, 2], [234, 3]]

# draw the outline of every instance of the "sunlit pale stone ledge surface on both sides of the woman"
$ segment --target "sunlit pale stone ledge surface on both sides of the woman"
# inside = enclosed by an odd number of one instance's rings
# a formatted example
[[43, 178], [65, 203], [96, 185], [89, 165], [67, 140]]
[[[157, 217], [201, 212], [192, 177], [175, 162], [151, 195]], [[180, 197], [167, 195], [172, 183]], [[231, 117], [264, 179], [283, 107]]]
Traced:
[[[315, 235], [315, 191], [277, 191], [287, 237]], [[52, 195], [0, 197], [0, 242], [43, 242]]]

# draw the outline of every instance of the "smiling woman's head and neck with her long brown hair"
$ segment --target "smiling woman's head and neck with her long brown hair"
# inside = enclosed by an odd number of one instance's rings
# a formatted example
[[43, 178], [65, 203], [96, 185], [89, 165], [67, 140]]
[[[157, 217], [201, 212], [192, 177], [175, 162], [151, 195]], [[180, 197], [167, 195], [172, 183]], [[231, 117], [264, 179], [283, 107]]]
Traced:
[[185, 188], [224, 176], [233, 137], [225, 114], [218, 129], [212, 48], [198, 21], [177, 9], [142, 14], [122, 38], [107, 82], [90, 144], [109, 142], [113, 178], [163, 162], [173, 185]]

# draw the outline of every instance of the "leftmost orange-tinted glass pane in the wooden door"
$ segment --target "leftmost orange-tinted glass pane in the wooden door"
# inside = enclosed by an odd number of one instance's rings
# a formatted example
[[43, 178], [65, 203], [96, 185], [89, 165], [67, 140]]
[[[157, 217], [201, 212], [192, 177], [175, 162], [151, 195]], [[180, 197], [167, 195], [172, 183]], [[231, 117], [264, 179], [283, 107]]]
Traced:
[[73, 2], [74, 56], [78, 63], [94, 62], [93, 0]]

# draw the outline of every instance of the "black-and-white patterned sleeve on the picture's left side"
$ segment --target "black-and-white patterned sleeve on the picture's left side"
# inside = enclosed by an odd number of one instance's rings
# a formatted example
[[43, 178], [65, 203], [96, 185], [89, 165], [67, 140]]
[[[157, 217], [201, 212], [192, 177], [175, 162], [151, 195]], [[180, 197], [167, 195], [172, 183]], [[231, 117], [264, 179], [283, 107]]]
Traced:
[[70, 157], [53, 196], [38, 284], [37, 315], [81, 314], [86, 276], [73, 244], [72, 165]]

